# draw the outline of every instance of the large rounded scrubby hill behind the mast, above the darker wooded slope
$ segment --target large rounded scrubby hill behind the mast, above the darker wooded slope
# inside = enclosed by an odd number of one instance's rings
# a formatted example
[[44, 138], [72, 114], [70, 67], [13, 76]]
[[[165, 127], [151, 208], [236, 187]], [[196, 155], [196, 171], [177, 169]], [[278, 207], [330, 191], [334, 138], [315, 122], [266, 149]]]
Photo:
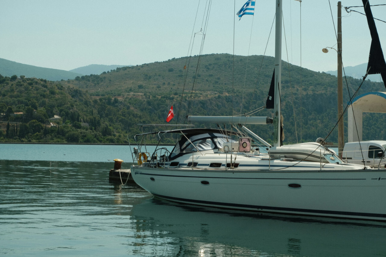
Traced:
[[[196, 73], [198, 61], [200, 69]], [[123, 67], [100, 76], [83, 76], [61, 83], [85, 89], [91, 96], [110, 95], [125, 99], [132, 105], [131, 108], [140, 111], [143, 115], [152, 113], [156, 117], [166, 116], [172, 104], [176, 113], [176, 105], [180, 103], [194, 106], [188, 111], [185, 108], [179, 108], [181, 117], [185, 117], [188, 113], [232, 115], [246, 113], [265, 105], [273, 63], [273, 57], [264, 57], [263, 61], [262, 56], [256, 55], [233, 57], [229, 54], [210, 54], [203, 55], [200, 59], [197, 56], [183, 57]], [[186, 69], [184, 69], [185, 65]], [[233, 77], [232, 69], [234, 69]], [[232, 81], [234, 81], [233, 84]], [[194, 87], [192, 87], [193, 82]], [[347, 82], [351, 95], [361, 83], [350, 77], [347, 78]], [[330, 74], [310, 71], [283, 62], [282, 110], [287, 142], [296, 142], [296, 132], [298, 141], [300, 139], [315, 141], [319, 136], [325, 137], [334, 127], [337, 119], [336, 83], [336, 77]], [[344, 102], [347, 102], [349, 94], [347, 87], [344, 86], [344, 88]], [[191, 94], [192, 89], [193, 94]], [[383, 84], [366, 81], [358, 94], [368, 91], [384, 91]], [[157, 108], [156, 102], [161, 96], [168, 100], [168, 104], [163, 102], [163, 107]], [[138, 101], [146, 101], [146, 104], [135, 105]], [[255, 115], [272, 117], [273, 111], [264, 109]], [[372, 115], [370, 114], [371, 117]], [[183, 119], [180, 118], [179, 122], [182, 121]], [[366, 123], [366, 117], [364, 123]], [[301, 129], [300, 126], [302, 126]], [[375, 131], [366, 131], [366, 133], [376, 134]], [[271, 138], [269, 129], [259, 128], [259, 134], [263, 138]], [[337, 132], [334, 131], [330, 140], [337, 141], [336, 137]]]

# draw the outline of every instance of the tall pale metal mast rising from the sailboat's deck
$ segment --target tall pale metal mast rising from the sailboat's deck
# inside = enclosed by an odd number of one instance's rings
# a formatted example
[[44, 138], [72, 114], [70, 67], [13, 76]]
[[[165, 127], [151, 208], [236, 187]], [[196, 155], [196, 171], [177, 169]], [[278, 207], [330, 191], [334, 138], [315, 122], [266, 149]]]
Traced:
[[281, 0], [276, 2], [276, 34], [275, 34], [275, 105], [274, 105], [274, 132], [273, 146], [281, 146], [281, 101], [280, 101], [280, 84], [281, 84], [281, 19], [282, 7]]

